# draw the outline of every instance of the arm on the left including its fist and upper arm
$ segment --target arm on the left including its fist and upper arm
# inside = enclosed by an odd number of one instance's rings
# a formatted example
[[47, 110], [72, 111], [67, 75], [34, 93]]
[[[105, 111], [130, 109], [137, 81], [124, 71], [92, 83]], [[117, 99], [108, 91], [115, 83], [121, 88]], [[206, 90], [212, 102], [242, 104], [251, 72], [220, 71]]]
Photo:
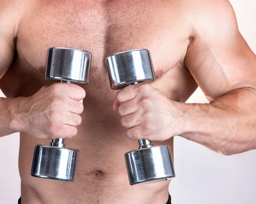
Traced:
[[[0, 0], [0, 80], [15, 54], [23, 5], [23, 1]], [[84, 106], [79, 101], [84, 97], [79, 85], [56, 83], [29, 97], [0, 98], [0, 137], [25, 132], [39, 139], [72, 138], [81, 124]]]

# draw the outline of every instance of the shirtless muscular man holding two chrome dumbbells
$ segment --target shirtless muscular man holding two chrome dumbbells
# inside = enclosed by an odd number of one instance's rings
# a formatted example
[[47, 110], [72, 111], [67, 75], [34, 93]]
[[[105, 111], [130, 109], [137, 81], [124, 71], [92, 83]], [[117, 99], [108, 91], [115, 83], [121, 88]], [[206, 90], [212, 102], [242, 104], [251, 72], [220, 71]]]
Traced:
[[[44, 79], [56, 46], [93, 54], [89, 85]], [[136, 48], [157, 80], [116, 95], [104, 59]], [[0, 0], [0, 135], [20, 132], [21, 203], [165, 204], [169, 181], [130, 186], [124, 153], [143, 138], [172, 148], [175, 135], [255, 149], [255, 67], [228, 0]], [[185, 104], [198, 85], [210, 104]], [[30, 176], [34, 145], [58, 137], [80, 150], [73, 183]]]

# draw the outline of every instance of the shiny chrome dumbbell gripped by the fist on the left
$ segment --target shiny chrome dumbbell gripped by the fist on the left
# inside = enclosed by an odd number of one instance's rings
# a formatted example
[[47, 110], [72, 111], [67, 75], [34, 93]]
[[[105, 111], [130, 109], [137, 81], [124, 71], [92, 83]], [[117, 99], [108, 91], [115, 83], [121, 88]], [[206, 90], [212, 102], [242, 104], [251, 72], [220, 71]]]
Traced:
[[[49, 48], [45, 79], [87, 84], [92, 54], [72, 48]], [[52, 139], [50, 146], [35, 145], [31, 176], [75, 181], [79, 150], [65, 148], [64, 139]]]

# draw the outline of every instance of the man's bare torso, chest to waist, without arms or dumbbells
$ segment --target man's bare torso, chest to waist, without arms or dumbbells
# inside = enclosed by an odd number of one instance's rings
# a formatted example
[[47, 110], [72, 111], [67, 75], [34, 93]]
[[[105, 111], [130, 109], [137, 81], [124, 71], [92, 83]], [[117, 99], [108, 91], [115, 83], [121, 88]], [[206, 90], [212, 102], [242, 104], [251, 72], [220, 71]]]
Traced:
[[[30, 176], [35, 144], [49, 145], [20, 133], [19, 170], [24, 204], [36, 203], [165, 203], [168, 181], [130, 186], [124, 153], [138, 143], [125, 136], [120, 117], [112, 109], [105, 57], [120, 51], [146, 48], [151, 52], [157, 86], [170, 99], [186, 101], [197, 85], [184, 68], [189, 23], [181, 1], [24, 0], [17, 37], [17, 54], [0, 80], [7, 97], [31, 96], [52, 82], [44, 79], [49, 47], [90, 51], [93, 61], [86, 91], [82, 124], [66, 147], [80, 150], [76, 181], [52, 181]], [[173, 139], [154, 142], [170, 145]]]

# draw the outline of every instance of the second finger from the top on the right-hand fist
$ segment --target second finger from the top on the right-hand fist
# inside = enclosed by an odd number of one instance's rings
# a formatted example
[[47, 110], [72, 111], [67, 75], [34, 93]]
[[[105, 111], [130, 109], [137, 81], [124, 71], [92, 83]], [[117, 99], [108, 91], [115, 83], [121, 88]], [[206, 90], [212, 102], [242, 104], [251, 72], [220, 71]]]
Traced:
[[127, 102], [120, 104], [117, 108], [117, 112], [120, 116], [126, 116], [136, 112], [139, 109], [138, 97], [131, 99]]

